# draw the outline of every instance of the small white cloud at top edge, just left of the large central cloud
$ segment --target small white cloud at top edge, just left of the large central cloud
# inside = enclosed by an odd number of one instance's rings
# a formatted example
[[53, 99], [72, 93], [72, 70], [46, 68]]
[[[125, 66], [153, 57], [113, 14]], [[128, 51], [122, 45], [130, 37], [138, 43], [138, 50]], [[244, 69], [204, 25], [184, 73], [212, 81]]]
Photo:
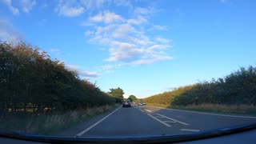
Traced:
[[76, 17], [83, 14], [85, 9], [78, 2], [59, 0], [55, 12], [66, 17]]

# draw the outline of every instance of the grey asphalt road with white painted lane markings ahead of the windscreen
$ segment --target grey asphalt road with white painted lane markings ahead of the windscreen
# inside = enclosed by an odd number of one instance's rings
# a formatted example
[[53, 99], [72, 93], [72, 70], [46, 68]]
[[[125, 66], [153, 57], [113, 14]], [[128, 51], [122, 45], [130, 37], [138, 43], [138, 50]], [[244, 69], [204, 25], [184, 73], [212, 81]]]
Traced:
[[118, 107], [58, 136], [74, 137], [144, 137], [189, 134], [202, 130], [256, 122], [256, 117], [200, 113], [163, 109], [154, 106]]

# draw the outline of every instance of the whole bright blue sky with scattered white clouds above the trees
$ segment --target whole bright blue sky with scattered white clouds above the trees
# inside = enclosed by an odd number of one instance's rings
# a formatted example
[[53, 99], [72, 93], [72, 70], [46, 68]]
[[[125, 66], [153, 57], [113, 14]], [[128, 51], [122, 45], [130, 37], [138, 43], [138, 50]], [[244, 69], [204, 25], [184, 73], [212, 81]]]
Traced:
[[0, 40], [46, 50], [127, 98], [256, 65], [254, 0], [0, 0]]

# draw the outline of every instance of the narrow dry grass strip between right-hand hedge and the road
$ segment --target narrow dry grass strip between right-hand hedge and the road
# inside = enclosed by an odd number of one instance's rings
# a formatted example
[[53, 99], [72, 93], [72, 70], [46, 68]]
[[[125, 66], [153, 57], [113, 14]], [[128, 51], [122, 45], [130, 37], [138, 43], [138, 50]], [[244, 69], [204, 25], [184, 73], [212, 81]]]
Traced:
[[149, 106], [159, 106], [164, 108], [178, 109], [178, 110], [194, 110], [201, 112], [211, 112], [218, 114], [242, 114], [256, 116], [256, 106], [253, 105], [223, 105], [223, 104], [211, 104], [204, 103], [201, 105], [189, 105], [189, 106], [170, 106], [158, 103], [147, 103]]

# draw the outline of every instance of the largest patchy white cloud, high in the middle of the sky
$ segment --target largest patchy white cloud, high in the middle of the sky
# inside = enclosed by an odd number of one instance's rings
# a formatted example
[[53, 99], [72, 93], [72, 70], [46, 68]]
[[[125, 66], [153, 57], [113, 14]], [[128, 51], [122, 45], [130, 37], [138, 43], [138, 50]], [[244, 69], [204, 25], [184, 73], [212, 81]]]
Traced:
[[154, 25], [149, 17], [154, 13], [151, 7], [134, 9], [130, 18], [105, 10], [88, 18], [90, 30], [85, 32], [90, 42], [108, 47], [108, 62], [122, 62], [123, 65], [142, 65], [171, 59], [166, 50], [171, 47], [170, 39], [146, 34], [151, 31], [167, 30], [166, 26]]

